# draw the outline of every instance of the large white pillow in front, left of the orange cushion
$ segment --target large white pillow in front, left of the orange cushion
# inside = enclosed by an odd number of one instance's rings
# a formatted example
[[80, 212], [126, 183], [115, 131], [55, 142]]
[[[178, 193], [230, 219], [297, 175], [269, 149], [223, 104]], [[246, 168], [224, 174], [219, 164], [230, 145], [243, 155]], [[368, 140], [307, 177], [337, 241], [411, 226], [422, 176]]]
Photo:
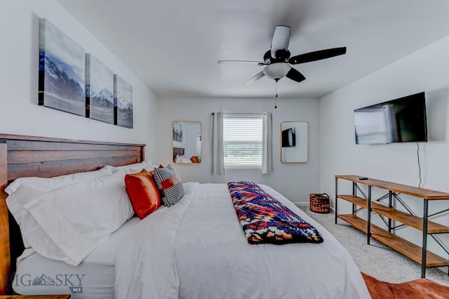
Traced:
[[22, 234], [37, 253], [79, 265], [133, 216], [126, 171], [53, 190], [22, 208]]

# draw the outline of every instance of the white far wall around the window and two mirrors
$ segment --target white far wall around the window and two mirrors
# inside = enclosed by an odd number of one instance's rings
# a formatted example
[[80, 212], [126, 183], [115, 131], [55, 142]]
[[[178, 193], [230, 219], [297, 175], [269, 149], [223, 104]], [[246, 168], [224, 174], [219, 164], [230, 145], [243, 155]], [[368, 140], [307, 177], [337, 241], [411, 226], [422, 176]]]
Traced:
[[[273, 114], [274, 172], [262, 175], [256, 170], [227, 170], [225, 175], [211, 175], [210, 124], [211, 113], [223, 110], [228, 113], [265, 112]], [[184, 181], [228, 182], [230, 180], [253, 180], [267, 184], [284, 194], [293, 202], [308, 202], [309, 194], [319, 192], [319, 100], [257, 98], [161, 98], [159, 102], [159, 157], [157, 163], [172, 163], [172, 122], [201, 121], [201, 164], [175, 164]], [[307, 163], [281, 163], [281, 121], [309, 122], [309, 161]]]

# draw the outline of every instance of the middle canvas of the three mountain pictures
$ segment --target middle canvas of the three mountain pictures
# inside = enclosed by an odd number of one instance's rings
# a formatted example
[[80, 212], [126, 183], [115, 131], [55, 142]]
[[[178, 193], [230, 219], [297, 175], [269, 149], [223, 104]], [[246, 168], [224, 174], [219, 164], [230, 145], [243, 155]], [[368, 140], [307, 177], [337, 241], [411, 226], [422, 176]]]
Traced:
[[114, 72], [86, 54], [86, 117], [114, 124]]

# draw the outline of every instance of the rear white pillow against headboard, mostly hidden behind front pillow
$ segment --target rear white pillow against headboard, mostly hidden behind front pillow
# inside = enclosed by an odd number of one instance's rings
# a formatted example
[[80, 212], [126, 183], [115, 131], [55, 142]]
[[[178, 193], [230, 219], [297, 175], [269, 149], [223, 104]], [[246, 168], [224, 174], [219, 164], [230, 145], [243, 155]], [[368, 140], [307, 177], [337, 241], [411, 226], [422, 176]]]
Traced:
[[[102, 176], [110, 174], [112, 174], [112, 170], [103, 167], [98, 171], [72, 173], [69, 175], [56, 176], [54, 178], [18, 178], [5, 188], [5, 192], [9, 194], [6, 198], [6, 205], [11, 214], [13, 214], [15, 221], [18, 222], [18, 225], [20, 226], [20, 208], [25, 206], [25, 204], [28, 204], [29, 201], [32, 201], [46, 192], [72, 185], [76, 182], [95, 180], [96, 178], [101, 178]], [[24, 239], [23, 241], [25, 244], [26, 240]], [[27, 247], [27, 244], [25, 244], [25, 247]]]

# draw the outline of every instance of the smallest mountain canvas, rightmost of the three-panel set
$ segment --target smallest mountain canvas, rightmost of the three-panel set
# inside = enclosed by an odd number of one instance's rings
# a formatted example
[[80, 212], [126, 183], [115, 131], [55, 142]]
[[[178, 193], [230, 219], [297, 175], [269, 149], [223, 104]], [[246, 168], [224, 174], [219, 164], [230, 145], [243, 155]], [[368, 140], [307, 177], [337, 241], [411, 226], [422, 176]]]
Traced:
[[133, 86], [114, 74], [114, 124], [133, 128]]

